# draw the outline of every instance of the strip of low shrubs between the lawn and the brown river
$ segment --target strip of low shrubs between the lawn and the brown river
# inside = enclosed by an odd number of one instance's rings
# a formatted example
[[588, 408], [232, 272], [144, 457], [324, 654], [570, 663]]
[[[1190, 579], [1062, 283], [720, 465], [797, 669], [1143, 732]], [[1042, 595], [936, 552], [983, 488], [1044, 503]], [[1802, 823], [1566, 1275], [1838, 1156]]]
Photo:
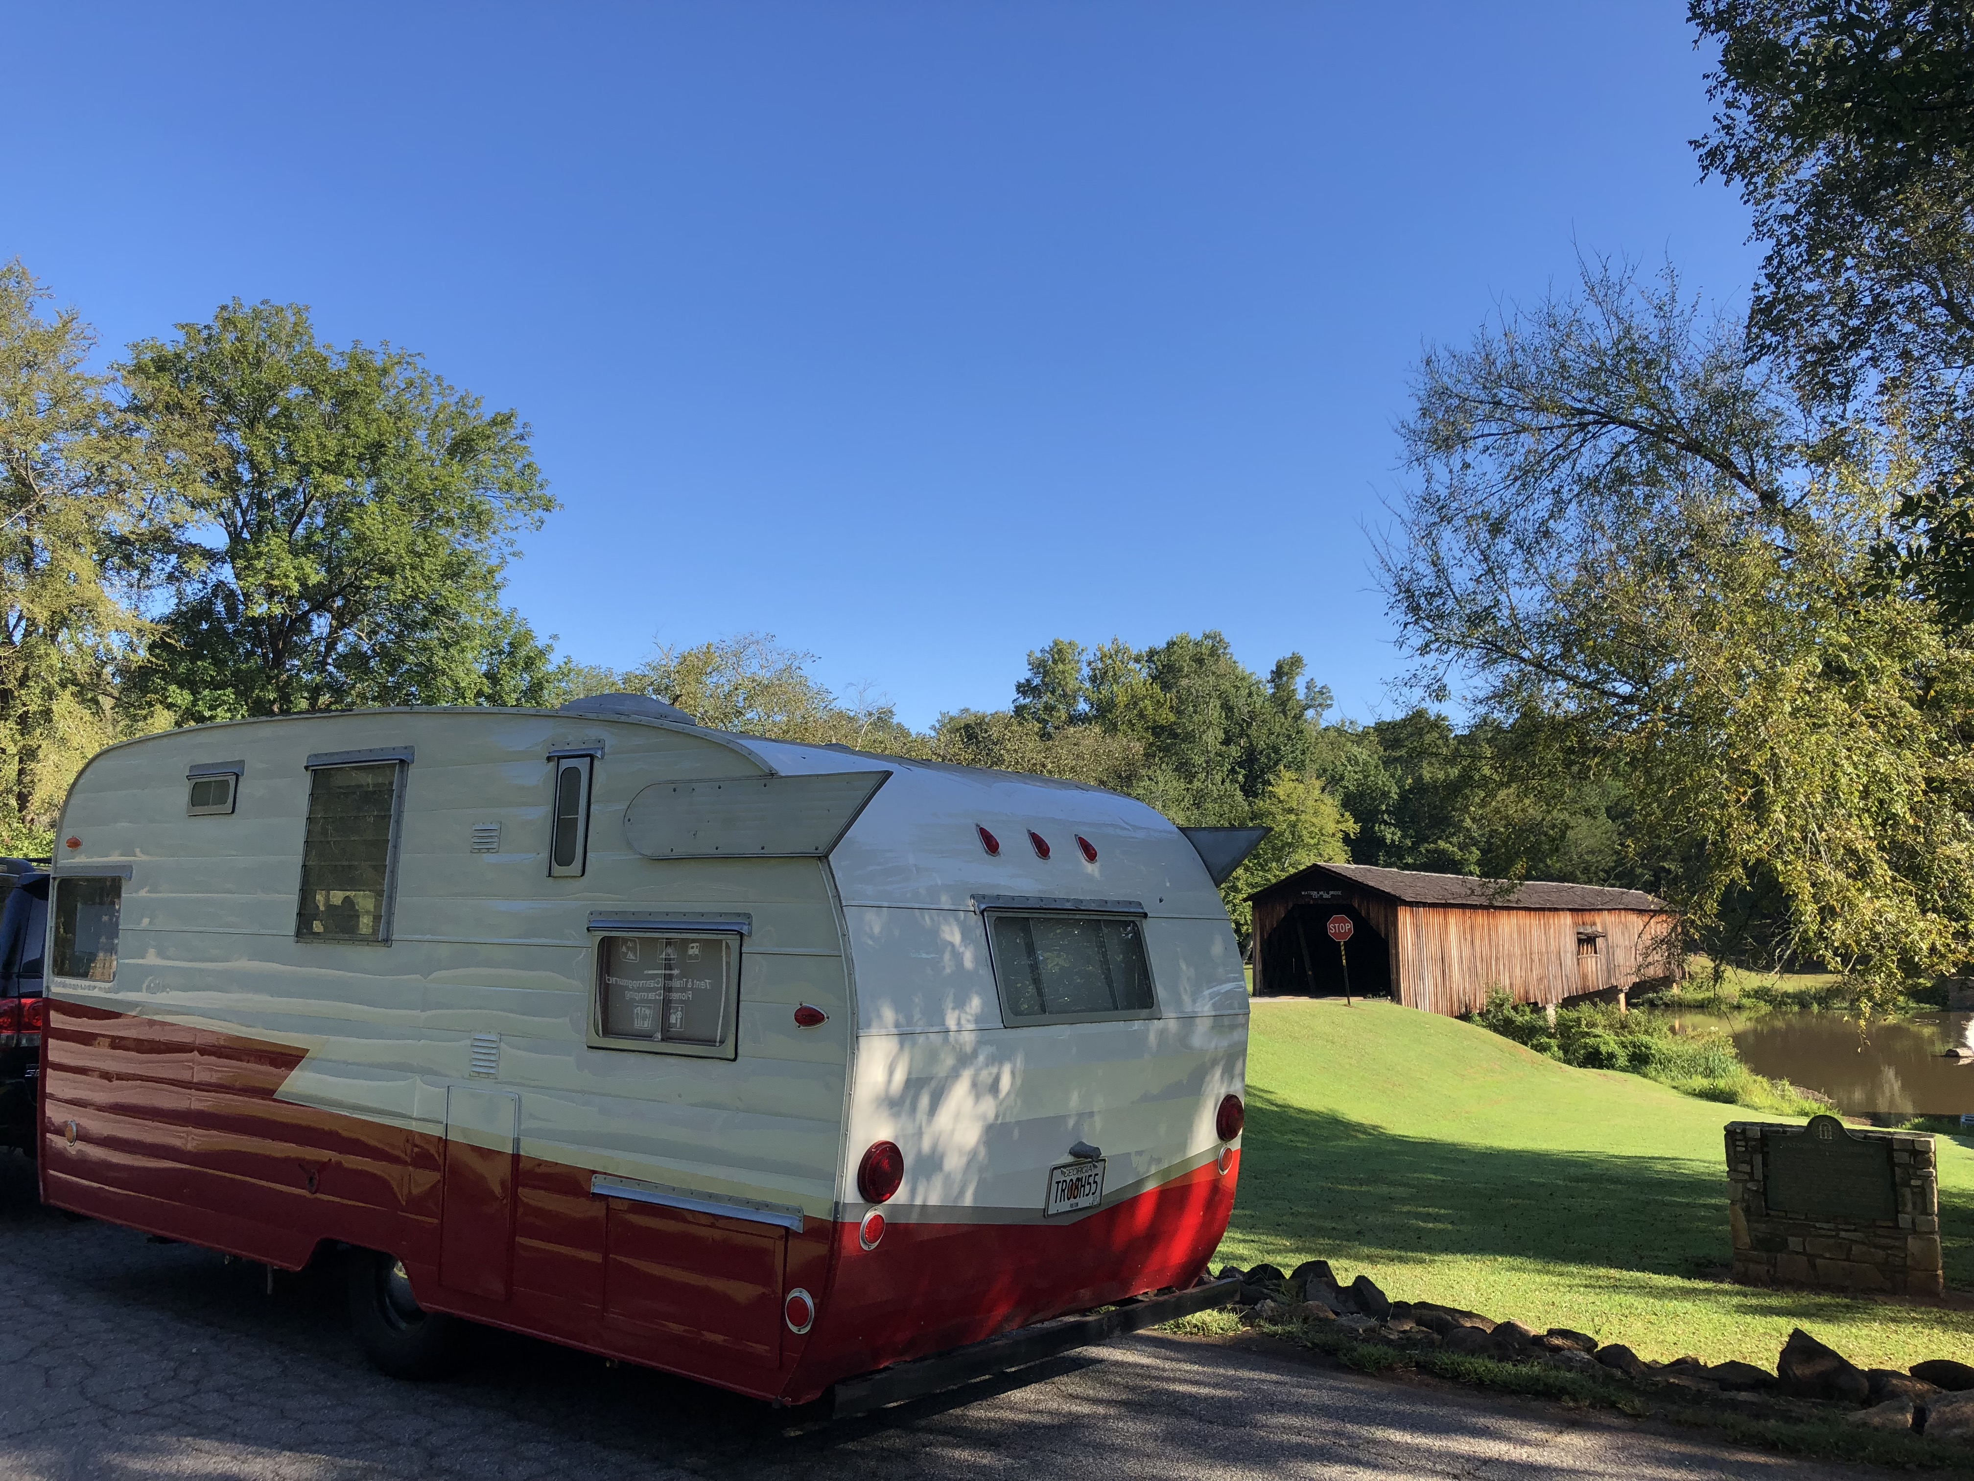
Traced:
[[1646, 1007], [1619, 1013], [1615, 1007], [1585, 1003], [1559, 1009], [1550, 1023], [1540, 1007], [1516, 1003], [1508, 993], [1496, 991], [1473, 1021], [1579, 1070], [1642, 1074], [1684, 1096], [1777, 1116], [1830, 1110], [1824, 1096], [1749, 1070], [1727, 1035], [1674, 1033], [1672, 1019]]

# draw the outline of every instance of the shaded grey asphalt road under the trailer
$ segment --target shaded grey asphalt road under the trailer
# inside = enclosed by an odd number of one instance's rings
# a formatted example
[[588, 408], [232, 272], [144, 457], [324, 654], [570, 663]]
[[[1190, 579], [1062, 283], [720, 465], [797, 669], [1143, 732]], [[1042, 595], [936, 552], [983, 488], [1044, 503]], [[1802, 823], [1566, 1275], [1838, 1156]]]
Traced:
[[790, 1430], [766, 1406], [488, 1333], [474, 1374], [401, 1384], [334, 1272], [276, 1278], [34, 1205], [0, 1161], [0, 1477], [1861, 1477], [1518, 1402], [1139, 1335], [959, 1396]]

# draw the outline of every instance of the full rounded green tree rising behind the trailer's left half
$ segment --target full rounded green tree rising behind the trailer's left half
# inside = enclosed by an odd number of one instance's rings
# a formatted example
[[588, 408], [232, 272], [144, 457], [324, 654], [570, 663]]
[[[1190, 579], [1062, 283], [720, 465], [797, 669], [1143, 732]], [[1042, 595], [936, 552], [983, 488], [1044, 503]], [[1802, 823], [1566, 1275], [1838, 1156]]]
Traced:
[[130, 417], [211, 531], [172, 586], [148, 697], [184, 721], [517, 703], [549, 652], [501, 606], [513, 535], [555, 507], [511, 411], [403, 350], [320, 344], [298, 304], [144, 340]]

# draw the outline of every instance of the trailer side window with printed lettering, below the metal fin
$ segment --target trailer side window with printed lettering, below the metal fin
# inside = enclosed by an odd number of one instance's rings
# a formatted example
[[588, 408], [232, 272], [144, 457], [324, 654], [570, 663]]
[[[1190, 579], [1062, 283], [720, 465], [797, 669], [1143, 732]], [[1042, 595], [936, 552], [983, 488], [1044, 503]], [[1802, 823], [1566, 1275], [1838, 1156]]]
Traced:
[[596, 942], [602, 1047], [724, 1052], [732, 1043], [734, 936], [604, 936]]

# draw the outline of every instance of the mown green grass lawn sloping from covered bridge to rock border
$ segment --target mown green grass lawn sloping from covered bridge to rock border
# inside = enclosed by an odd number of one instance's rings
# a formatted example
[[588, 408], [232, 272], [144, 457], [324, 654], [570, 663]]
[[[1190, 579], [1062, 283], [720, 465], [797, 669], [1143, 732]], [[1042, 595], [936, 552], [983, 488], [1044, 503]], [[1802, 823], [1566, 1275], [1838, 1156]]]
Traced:
[[[1773, 1368], [1790, 1327], [1861, 1366], [1974, 1353], [1974, 1311], [1700, 1278], [1729, 1260], [1733, 1120], [1755, 1116], [1433, 1013], [1257, 1003], [1216, 1266], [1321, 1258], [1394, 1299], [1575, 1327], [1648, 1359]], [[1974, 1289], [1974, 1141], [1938, 1149], [1946, 1284]]]

